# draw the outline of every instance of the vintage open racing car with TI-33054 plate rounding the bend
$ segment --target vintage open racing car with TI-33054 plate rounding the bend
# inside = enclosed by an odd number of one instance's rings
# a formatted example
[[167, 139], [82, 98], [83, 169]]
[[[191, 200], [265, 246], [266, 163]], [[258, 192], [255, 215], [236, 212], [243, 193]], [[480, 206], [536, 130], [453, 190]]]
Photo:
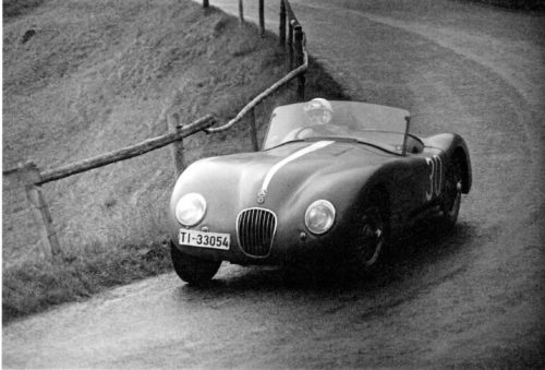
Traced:
[[403, 109], [366, 103], [277, 107], [262, 151], [201, 159], [178, 179], [175, 272], [199, 284], [222, 261], [368, 268], [422, 215], [452, 227], [472, 182], [467, 144], [453, 133], [420, 139], [409, 123]]

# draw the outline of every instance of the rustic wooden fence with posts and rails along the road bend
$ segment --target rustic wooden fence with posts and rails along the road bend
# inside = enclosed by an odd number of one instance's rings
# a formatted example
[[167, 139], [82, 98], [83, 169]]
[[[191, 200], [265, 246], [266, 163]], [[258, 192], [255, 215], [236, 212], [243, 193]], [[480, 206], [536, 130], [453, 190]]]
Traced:
[[[203, 7], [208, 8], [208, 0], [203, 0]], [[241, 22], [244, 21], [243, 0], [239, 0], [239, 13]], [[288, 38], [286, 37], [288, 25]], [[259, 33], [265, 33], [264, 0], [259, 0]], [[254, 151], [258, 150], [257, 127], [255, 118], [255, 108], [265, 98], [287, 85], [290, 81], [298, 79], [298, 98], [304, 99], [305, 73], [308, 69], [308, 55], [306, 52], [306, 39], [302, 26], [296, 20], [288, 0], [280, 1], [280, 45], [288, 49], [289, 72], [266, 91], [253, 98], [246, 104], [239, 114], [218, 128], [211, 128], [216, 119], [211, 116], [205, 116], [187, 126], [180, 126], [179, 116], [167, 117], [169, 132], [165, 135], [145, 140], [138, 144], [126, 146], [113, 152], [109, 152], [96, 157], [87, 158], [77, 163], [69, 164], [59, 168], [40, 171], [33, 163], [20, 165], [15, 169], [3, 171], [3, 175], [14, 175], [24, 183], [26, 199], [31, 206], [35, 223], [40, 232], [40, 241], [44, 254], [47, 258], [58, 260], [62, 253], [59, 239], [55, 231], [49, 207], [41, 191], [41, 186], [51, 181], [63, 179], [65, 177], [88, 171], [94, 168], [102, 167], [116, 162], [125, 160], [142, 154], [155, 151], [157, 148], [172, 145], [172, 160], [174, 164], [174, 175], [178, 176], [185, 168], [183, 138], [190, 136], [198, 131], [206, 133], [216, 133], [230, 129], [233, 124], [240, 122], [246, 115], [250, 115], [250, 129], [252, 134], [252, 146]], [[295, 67], [295, 68], [294, 68]]]

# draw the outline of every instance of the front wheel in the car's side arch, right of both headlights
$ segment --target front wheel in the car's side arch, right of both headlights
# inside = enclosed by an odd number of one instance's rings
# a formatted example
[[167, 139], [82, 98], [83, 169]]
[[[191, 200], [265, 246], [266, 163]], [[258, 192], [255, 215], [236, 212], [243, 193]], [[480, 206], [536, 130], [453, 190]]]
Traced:
[[386, 194], [375, 191], [367, 196], [359, 216], [358, 230], [350, 253], [351, 265], [356, 271], [370, 271], [379, 261], [388, 240], [388, 213]]

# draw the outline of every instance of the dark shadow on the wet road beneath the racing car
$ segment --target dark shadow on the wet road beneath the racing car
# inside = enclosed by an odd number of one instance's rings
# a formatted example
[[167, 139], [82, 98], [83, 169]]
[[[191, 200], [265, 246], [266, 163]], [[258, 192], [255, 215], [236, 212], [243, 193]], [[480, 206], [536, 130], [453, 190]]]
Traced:
[[[463, 250], [469, 248], [476, 225], [459, 223], [451, 232], [445, 232], [433, 222], [422, 222], [405, 236], [390, 243], [382, 260], [371, 272], [353, 273], [342, 266], [223, 266], [221, 273], [204, 286], [184, 284], [181, 294], [198, 296], [222, 296], [251, 291], [275, 291], [300, 294], [338, 295], [339, 293], [364, 293], [373, 295], [389, 286], [399, 285], [414, 276], [437, 270], [426, 285], [439, 284], [464, 270]], [[448, 264], [452, 268], [445, 271]]]

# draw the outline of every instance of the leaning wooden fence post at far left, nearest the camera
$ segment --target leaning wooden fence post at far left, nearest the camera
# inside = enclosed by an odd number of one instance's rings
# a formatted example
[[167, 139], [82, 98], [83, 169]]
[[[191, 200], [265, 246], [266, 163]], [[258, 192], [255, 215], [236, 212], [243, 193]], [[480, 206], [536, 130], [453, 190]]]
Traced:
[[20, 166], [19, 170], [25, 182], [26, 200], [31, 207], [34, 222], [39, 229], [44, 254], [47, 259], [57, 260], [62, 256], [62, 252], [57, 232], [52, 225], [49, 207], [41, 192], [41, 187], [36, 184], [36, 182], [39, 182], [41, 179], [39, 169], [34, 163], [28, 162]]

